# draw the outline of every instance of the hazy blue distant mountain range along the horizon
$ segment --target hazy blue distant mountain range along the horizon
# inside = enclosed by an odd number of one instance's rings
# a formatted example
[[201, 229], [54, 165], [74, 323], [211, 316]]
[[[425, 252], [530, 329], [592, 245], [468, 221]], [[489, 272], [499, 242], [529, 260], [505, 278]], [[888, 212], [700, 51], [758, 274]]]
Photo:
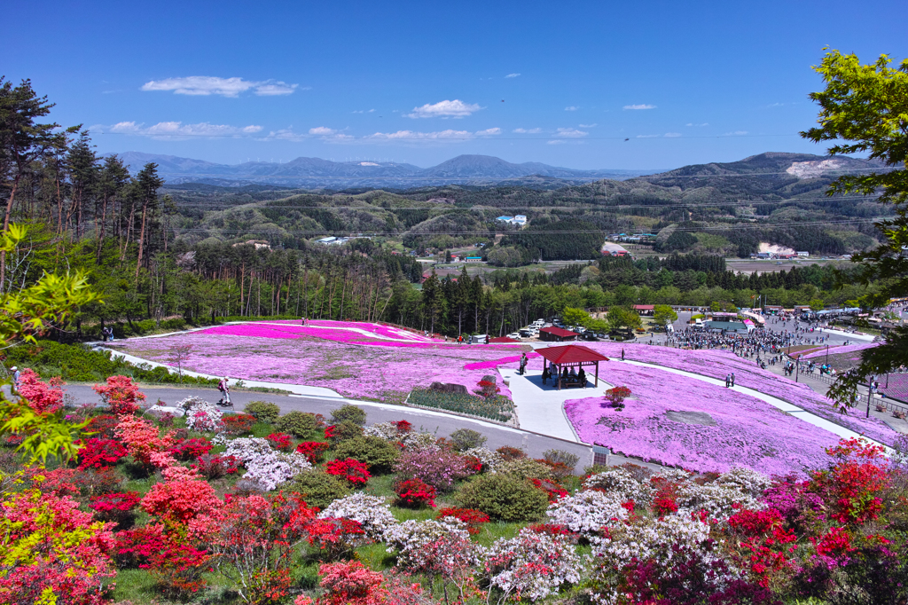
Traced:
[[169, 184], [206, 183], [238, 187], [251, 183], [305, 189], [381, 187], [411, 189], [420, 186], [468, 184], [521, 184], [543, 188], [589, 183], [602, 179], [623, 181], [657, 170], [574, 170], [538, 162], [511, 164], [490, 155], [459, 155], [431, 168], [392, 162], [331, 162], [317, 157], [298, 157], [287, 163], [246, 162], [214, 164], [175, 155], [126, 152], [118, 154], [133, 172], [144, 164], [158, 164]]

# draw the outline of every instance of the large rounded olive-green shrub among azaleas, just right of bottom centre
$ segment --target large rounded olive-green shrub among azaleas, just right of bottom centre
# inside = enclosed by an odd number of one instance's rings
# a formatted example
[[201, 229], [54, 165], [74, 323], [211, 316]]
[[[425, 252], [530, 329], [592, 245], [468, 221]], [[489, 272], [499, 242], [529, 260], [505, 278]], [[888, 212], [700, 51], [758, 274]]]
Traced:
[[548, 508], [548, 496], [529, 481], [513, 475], [477, 475], [454, 494], [459, 508], [483, 511], [493, 521], [538, 521]]

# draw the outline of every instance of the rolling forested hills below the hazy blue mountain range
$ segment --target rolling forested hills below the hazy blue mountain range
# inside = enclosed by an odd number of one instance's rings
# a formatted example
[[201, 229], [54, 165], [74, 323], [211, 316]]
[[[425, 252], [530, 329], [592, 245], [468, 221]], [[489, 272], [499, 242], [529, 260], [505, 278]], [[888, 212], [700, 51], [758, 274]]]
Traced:
[[[419, 251], [494, 241], [515, 232], [493, 254], [502, 264], [589, 257], [604, 232], [659, 233], [661, 252], [747, 255], [761, 242], [814, 253], [841, 254], [873, 245], [873, 218], [886, 209], [870, 198], [827, 197], [843, 171], [879, 166], [853, 158], [767, 153], [730, 164], [698, 164], [626, 181], [601, 180], [539, 190], [517, 184], [445, 185], [406, 191], [345, 190], [312, 193], [267, 185], [166, 185], [183, 216], [179, 237], [188, 243], [260, 239], [299, 248], [325, 235], [380, 235]], [[496, 221], [526, 214], [527, 230]], [[569, 245], [548, 232], [587, 233]], [[541, 227], [546, 227], [542, 230]], [[593, 233], [588, 233], [593, 232]], [[674, 235], [674, 237], [672, 237]], [[588, 241], [587, 241], [588, 240]], [[554, 253], [554, 251], [561, 251]], [[488, 248], [491, 253], [491, 246]], [[582, 255], [577, 253], [584, 251]]]

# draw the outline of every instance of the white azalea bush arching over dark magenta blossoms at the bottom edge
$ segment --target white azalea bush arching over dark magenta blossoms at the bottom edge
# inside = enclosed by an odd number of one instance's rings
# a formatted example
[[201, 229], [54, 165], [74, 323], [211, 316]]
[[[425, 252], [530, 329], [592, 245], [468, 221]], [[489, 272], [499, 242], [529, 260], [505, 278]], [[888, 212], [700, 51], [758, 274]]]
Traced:
[[[610, 531], [610, 537], [590, 539], [593, 556], [597, 560], [592, 580], [599, 587], [599, 591], [592, 595], [593, 600], [607, 605], [617, 603], [624, 567], [632, 559], [670, 566], [677, 556], [674, 547], [693, 554], [697, 563], [708, 569], [718, 559], [707, 542], [709, 530], [708, 523], [679, 514], [666, 515], [657, 521], [617, 525]], [[740, 576], [739, 570], [730, 568], [728, 574], [713, 576], [710, 580], [719, 587]]]

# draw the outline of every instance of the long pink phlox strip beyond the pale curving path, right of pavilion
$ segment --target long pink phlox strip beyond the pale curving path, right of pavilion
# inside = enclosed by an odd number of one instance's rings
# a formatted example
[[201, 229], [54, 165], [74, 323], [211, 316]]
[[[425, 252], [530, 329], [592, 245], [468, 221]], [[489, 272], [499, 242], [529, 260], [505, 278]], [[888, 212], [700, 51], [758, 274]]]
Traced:
[[[685, 372], [702, 374], [717, 380], [724, 380], [725, 374], [735, 372], [735, 384], [771, 395], [784, 402], [834, 422], [846, 429], [863, 434], [874, 441], [891, 445], [898, 436], [893, 429], [877, 418], [864, 418], [857, 411], [841, 414], [832, 400], [814, 392], [809, 386], [779, 376], [756, 365], [754, 360], [738, 357], [733, 352], [718, 350], [686, 351], [671, 347], [650, 346], [648, 344], [620, 344], [610, 342], [591, 342], [585, 346], [612, 357], [621, 358], [621, 349], [625, 350], [627, 359], [635, 362], [654, 363]], [[600, 376], [608, 381], [612, 362], [600, 366]], [[621, 362], [615, 362], [621, 363]], [[603, 370], [603, 367], [605, 370]], [[611, 382], [611, 381], [608, 381]]]

